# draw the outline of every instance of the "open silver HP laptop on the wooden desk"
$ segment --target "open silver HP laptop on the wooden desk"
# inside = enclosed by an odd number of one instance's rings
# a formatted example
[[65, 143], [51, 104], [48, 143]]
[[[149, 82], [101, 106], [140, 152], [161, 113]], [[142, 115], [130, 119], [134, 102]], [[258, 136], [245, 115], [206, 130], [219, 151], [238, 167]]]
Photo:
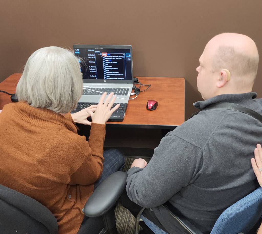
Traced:
[[[115, 103], [121, 103], [121, 108], [125, 106], [124, 111], [120, 109], [114, 115], [121, 115], [123, 119], [133, 88], [132, 46], [73, 45], [73, 50], [77, 57], [84, 60], [80, 66], [83, 95], [79, 103], [98, 103], [103, 92], [114, 92]], [[115, 116], [112, 115], [110, 120], [121, 121]]]

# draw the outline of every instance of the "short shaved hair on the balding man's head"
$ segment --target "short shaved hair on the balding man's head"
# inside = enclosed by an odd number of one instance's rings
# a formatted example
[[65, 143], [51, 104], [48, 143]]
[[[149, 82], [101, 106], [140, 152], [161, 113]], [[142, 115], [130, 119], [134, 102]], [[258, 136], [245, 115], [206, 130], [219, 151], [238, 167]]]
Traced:
[[[245, 78], [242, 82], [236, 80], [236, 84], [250, 85], [254, 83], [258, 71], [259, 55], [251, 57], [237, 51], [233, 46], [219, 46], [213, 60], [213, 72], [220, 69], [228, 69], [231, 76]], [[243, 82], [245, 84], [243, 84]]]

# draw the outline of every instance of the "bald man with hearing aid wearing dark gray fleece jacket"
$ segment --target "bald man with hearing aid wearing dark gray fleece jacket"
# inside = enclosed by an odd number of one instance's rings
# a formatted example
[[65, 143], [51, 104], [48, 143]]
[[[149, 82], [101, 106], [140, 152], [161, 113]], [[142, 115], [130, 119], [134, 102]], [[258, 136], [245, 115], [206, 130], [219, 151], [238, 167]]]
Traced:
[[[248, 36], [223, 33], [212, 38], [199, 58], [197, 87], [204, 101], [199, 110], [220, 102], [239, 104], [262, 114], [262, 100], [251, 92], [259, 55]], [[250, 166], [262, 142], [262, 123], [238, 111], [200, 111], [154, 150], [151, 161], [135, 160], [128, 171], [121, 203], [168, 233], [187, 233], [161, 206], [169, 201], [204, 234], [219, 215], [258, 188]], [[143, 233], [152, 233], [144, 224]]]

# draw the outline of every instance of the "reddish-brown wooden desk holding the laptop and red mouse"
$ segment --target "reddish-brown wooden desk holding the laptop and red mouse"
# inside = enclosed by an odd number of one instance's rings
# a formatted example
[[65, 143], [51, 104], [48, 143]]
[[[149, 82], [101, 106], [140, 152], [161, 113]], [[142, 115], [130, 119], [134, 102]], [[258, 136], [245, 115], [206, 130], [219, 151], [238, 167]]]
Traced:
[[[0, 90], [15, 93], [21, 77], [16, 73], [2, 83]], [[108, 122], [109, 127], [161, 128], [174, 129], [185, 121], [185, 79], [172, 77], [138, 77], [142, 84], [152, 84], [134, 100], [129, 100], [123, 122]], [[144, 90], [142, 86], [140, 90]], [[134, 96], [131, 96], [134, 97]], [[154, 111], [146, 110], [148, 100], [158, 101]], [[11, 103], [10, 96], [0, 92], [0, 109]]]

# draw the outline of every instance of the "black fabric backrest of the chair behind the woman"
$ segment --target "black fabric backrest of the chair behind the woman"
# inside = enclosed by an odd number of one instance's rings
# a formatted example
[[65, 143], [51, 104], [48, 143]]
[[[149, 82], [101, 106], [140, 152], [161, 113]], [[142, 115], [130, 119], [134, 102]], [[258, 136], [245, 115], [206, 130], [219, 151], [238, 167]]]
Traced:
[[54, 215], [41, 203], [0, 185], [0, 233], [57, 234]]

